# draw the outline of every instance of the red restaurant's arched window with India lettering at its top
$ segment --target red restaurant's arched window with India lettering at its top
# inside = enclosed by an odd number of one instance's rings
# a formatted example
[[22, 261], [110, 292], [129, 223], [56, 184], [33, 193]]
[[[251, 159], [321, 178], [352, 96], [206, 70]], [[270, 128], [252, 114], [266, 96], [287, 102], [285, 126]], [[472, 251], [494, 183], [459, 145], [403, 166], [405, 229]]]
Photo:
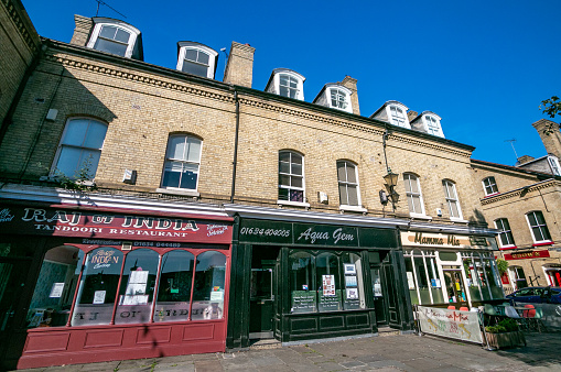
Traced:
[[97, 248], [87, 254], [72, 326], [111, 322], [122, 260], [121, 251], [107, 247]]

